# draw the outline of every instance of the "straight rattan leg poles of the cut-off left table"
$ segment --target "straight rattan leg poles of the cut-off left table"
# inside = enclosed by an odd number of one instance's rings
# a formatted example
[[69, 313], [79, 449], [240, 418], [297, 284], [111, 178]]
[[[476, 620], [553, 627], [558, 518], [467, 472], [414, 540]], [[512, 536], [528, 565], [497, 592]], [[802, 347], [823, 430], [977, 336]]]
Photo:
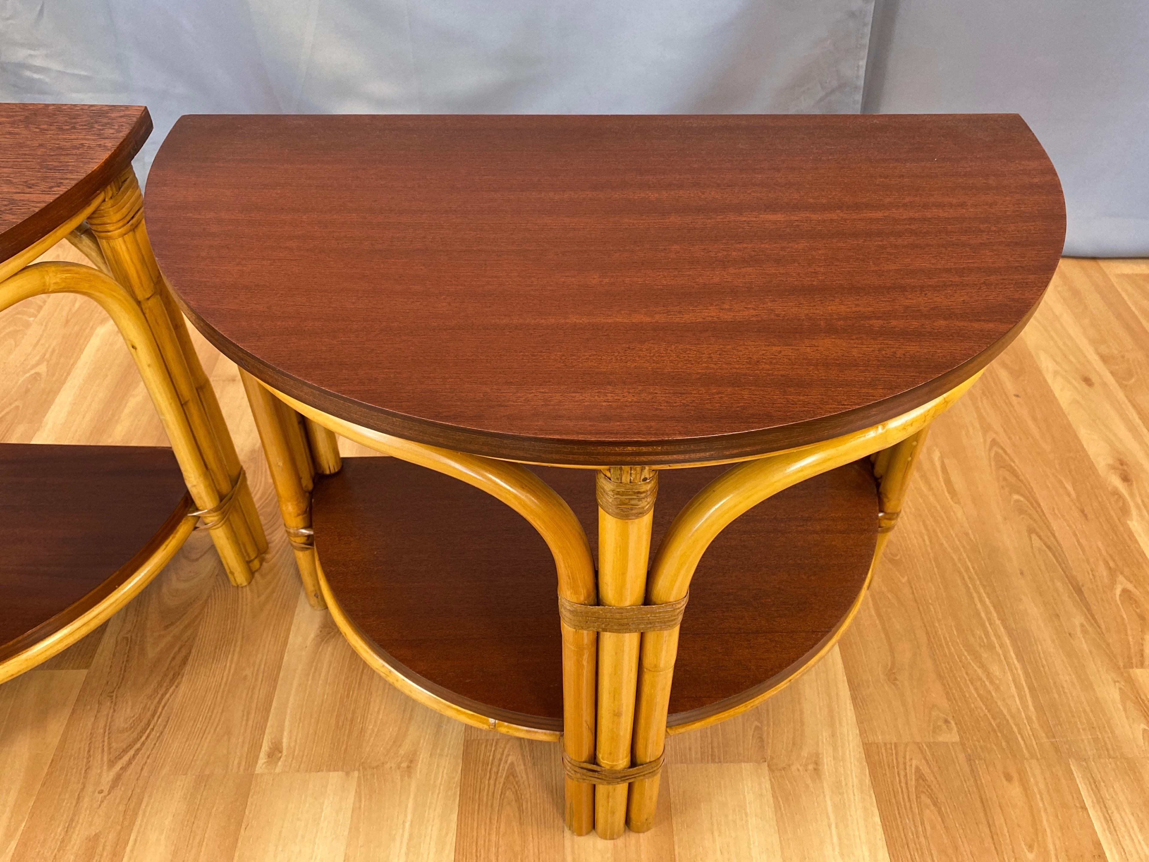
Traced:
[[[208, 394], [211, 387], [192, 349], [183, 316], [168, 295], [152, 254], [144, 226], [142, 195], [130, 168], [105, 188], [103, 200], [87, 216], [87, 222], [109, 271], [139, 303], [152, 329], [200, 456], [213, 479], [210, 506], [217, 506], [237, 487], [239, 459], [223, 425], [215, 395]], [[213, 530], [211, 538], [224, 560], [229, 578], [241, 585], [250, 582], [253, 572], [260, 567], [267, 539], [250, 491], [241, 487], [237, 494], [237, 505], [231, 507], [226, 523]]]

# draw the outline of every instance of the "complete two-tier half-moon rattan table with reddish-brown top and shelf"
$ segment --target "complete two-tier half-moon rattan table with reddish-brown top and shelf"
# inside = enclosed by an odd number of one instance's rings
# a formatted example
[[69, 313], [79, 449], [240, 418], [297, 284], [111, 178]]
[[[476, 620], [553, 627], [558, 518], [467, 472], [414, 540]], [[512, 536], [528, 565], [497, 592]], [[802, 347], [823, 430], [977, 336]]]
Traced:
[[1016, 115], [185, 116], [146, 207], [311, 603], [418, 701], [562, 739], [604, 838], [653, 825], [666, 733], [840, 637], [1065, 226]]

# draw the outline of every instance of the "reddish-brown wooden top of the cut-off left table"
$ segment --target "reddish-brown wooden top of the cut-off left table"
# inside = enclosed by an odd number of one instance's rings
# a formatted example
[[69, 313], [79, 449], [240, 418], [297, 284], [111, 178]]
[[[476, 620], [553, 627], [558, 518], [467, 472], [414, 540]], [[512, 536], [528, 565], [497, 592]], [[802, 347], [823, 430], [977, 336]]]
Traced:
[[0, 103], [0, 261], [75, 215], [151, 133], [139, 106]]

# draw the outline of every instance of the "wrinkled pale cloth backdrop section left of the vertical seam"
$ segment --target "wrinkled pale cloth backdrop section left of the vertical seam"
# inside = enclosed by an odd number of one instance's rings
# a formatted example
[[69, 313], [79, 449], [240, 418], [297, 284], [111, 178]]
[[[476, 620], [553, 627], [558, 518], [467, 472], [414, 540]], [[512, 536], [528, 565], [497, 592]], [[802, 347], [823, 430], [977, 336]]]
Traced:
[[0, 0], [0, 99], [195, 113], [853, 113], [873, 0]]

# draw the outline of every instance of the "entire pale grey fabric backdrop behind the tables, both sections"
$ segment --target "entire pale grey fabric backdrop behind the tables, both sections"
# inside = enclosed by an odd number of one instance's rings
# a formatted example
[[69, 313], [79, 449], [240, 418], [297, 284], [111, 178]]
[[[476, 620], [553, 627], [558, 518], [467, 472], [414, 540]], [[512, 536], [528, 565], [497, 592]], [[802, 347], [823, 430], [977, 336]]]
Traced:
[[864, 82], [1020, 113], [1067, 251], [1149, 254], [1149, 2], [873, 2], [0, 0], [0, 100], [147, 105], [142, 175], [180, 114], [853, 113]]

